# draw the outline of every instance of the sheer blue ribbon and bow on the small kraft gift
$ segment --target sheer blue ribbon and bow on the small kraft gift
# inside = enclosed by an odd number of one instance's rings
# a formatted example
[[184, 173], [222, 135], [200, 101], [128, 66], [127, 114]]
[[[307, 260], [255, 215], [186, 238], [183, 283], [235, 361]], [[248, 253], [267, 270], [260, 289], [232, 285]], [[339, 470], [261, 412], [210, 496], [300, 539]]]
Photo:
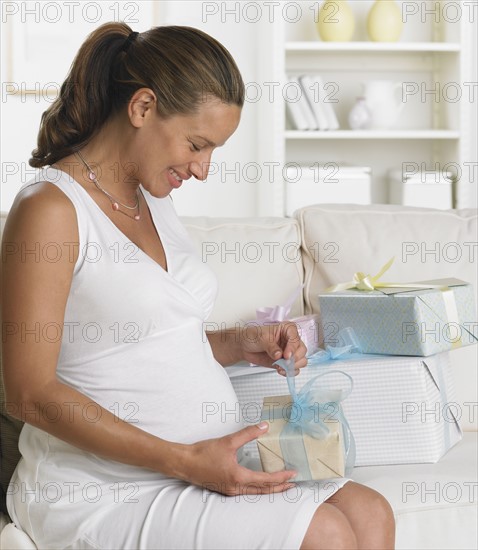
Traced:
[[[287, 384], [292, 397], [292, 406], [285, 411], [287, 423], [280, 434], [280, 447], [286, 469], [298, 471], [295, 478], [297, 481], [312, 479], [303, 435], [307, 434], [316, 439], [325, 439], [330, 433], [329, 427], [324, 422], [325, 417], [342, 424], [345, 474], [349, 475], [355, 465], [355, 440], [340, 403], [352, 391], [352, 377], [342, 371], [327, 371], [309, 380], [297, 392], [294, 359], [279, 359], [274, 364], [281, 366], [286, 371]], [[346, 378], [348, 387], [335, 390], [325, 390], [317, 387], [325, 376], [330, 375], [343, 375]], [[263, 410], [262, 420], [277, 418], [278, 414], [281, 414], [284, 418], [282, 408], [273, 408], [269, 411]]]

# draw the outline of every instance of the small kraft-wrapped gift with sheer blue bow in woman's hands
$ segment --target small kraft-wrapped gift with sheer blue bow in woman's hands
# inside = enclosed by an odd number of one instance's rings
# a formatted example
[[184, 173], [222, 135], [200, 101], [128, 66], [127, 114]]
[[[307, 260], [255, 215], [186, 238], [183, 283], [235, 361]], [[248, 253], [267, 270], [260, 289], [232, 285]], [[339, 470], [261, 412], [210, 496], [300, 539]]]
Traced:
[[[266, 397], [261, 420], [269, 430], [257, 440], [266, 472], [296, 470], [297, 481], [343, 477], [355, 465], [355, 440], [341, 403], [353, 389], [352, 378], [342, 372], [319, 372], [297, 391], [294, 359], [274, 364], [287, 373], [289, 395]], [[323, 382], [334, 376], [334, 388]]]

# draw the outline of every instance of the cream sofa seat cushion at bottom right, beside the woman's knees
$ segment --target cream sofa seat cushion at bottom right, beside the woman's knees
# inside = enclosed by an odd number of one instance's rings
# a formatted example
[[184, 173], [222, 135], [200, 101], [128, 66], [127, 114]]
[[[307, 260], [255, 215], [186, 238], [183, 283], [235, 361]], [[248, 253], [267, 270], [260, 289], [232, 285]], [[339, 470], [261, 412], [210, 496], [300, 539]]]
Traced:
[[466, 433], [436, 464], [354, 469], [354, 481], [390, 502], [397, 550], [478, 548], [477, 436]]

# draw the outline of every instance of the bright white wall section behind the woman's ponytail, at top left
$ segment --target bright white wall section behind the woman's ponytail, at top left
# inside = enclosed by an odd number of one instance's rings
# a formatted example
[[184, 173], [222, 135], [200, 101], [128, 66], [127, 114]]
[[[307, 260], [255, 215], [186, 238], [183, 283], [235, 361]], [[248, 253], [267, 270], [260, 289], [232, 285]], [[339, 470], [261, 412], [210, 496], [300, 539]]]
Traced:
[[2, 2], [1, 210], [9, 210], [20, 186], [35, 173], [28, 159], [36, 147], [41, 115], [86, 36], [100, 24], [120, 19], [139, 31], [147, 30], [158, 19], [158, 5]]

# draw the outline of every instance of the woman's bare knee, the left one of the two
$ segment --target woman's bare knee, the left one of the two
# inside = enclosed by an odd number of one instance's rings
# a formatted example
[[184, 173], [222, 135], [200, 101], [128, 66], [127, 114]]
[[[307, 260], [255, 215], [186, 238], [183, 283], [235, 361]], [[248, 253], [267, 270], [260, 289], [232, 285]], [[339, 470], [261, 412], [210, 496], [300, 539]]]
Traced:
[[317, 508], [300, 550], [355, 550], [355, 533], [345, 515], [330, 504]]

